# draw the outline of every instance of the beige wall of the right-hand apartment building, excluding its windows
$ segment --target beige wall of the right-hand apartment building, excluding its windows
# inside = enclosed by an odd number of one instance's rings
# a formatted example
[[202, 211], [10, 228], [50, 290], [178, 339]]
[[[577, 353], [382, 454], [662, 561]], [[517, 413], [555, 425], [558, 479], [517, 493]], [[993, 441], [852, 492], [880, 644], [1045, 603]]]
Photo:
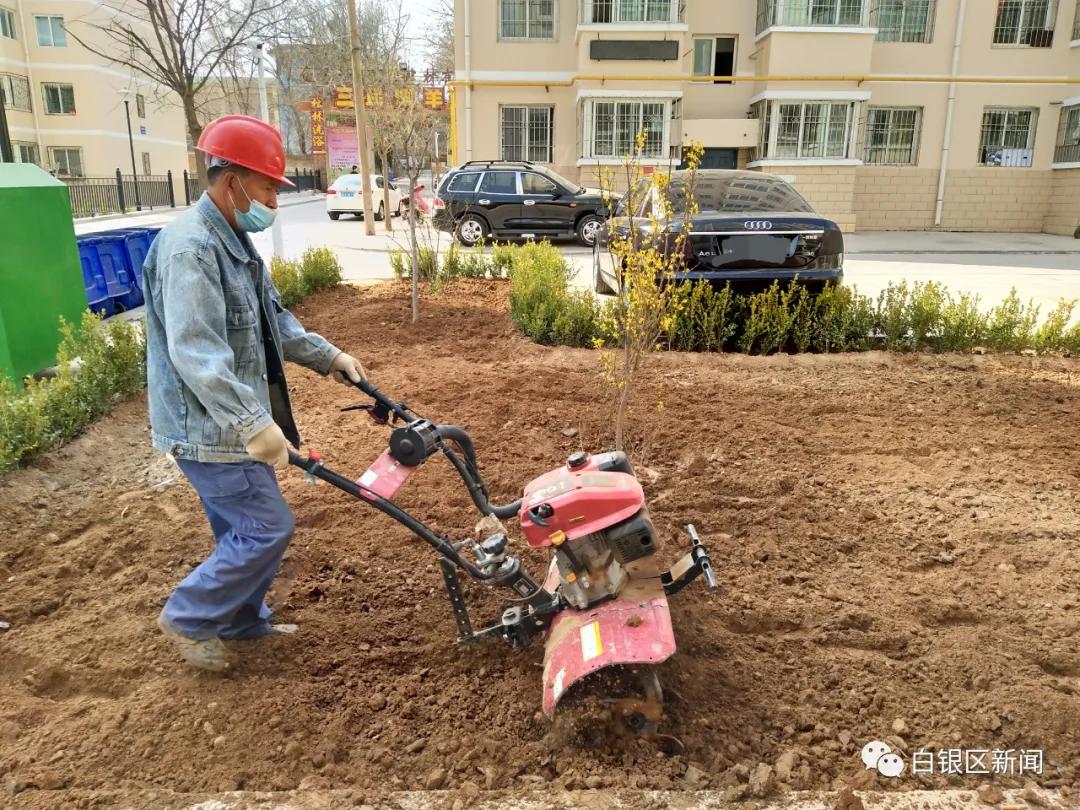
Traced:
[[[858, 130], [851, 158], [864, 154], [865, 122], [872, 107], [918, 107], [921, 111], [914, 165], [812, 165], [792, 161], [760, 166], [762, 171], [794, 176], [796, 186], [823, 213], [850, 229], [933, 228], [939, 174], [942, 165], [947, 109], [946, 82], [875, 81], [901, 76], [946, 76], [951, 70], [959, 0], [937, 0], [933, 37], [929, 43], [891, 43], [875, 40], [873, 32], [756, 31], [755, 0], [688, 0], [686, 24], [653, 26], [648, 32], [619, 26], [603, 31], [579, 29], [578, 0], [559, 0], [553, 42], [505, 42], [498, 39], [495, 3], [473, 0], [473, 78], [498, 77], [513, 83], [548, 82], [548, 86], [477, 86], [472, 93], [472, 157], [499, 157], [499, 107], [503, 104], [551, 104], [555, 107], [553, 167], [582, 183], [595, 181], [593, 166], [579, 166], [582, 139], [578, 92], [603, 87], [619, 93], [650, 90], [681, 93], [681, 118], [671, 123], [673, 144], [680, 138], [701, 139], [706, 147], [739, 148], [739, 165], [751, 158], [748, 146], [761, 122], [747, 120], [751, 99], [805, 98], [813, 93], [869, 94], [856, 106]], [[876, 4], [867, 0], [869, 8]], [[996, 46], [993, 44], [996, 8], [993, 0], [968, 2], [958, 71], [961, 76], [1002, 79], [1062, 77], [1059, 82], [959, 82], [949, 140], [946, 193], [941, 228], [970, 230], [991, 227], [1016, 231], [1053, 229], [1071, 233], [1080, 197], [1080, 170], [1053, 168], [1054, 147], [1062, 102], [1080, 97], [1080, 46], [1070, 48], [1076, 3], [1061, 0], [1052, 48]], [[457, 0], [458, 19], [464, 2]], [[696, 36], [737, 37], [737, 81], [713, 84], [691, 77]], [[464, 70], [463, 26], [456, 31], [457, 67]], [[675, 39], [677, 62], [593, 62], [589, 42], [608, 39]], [[481, 71], [480, 76], [475, 71]], [[580, 77], [603, 75], [605, 81]], [[645, 81], [638, 77], [656, 77]], [[755, 76], [853, 77], [850, 81], [753, 80]], [[460, 76], [460, 73], [459, 73]], [[577, 77], [577, 78], [575, 78]], [[634, 77], [627, 79], [626, 77]], [[663, 81], [664, 77], [673, 80]], [[864, 80], [859, 81], [858, 77]], [[744, 80], [739, 80], [744, 79]], [[558, 86], [570, 81], [570, 86]], [[464, 156], [464, 91], [458, 93], [458, 156]], [[987, 107], [1032, 108], [1038, 111], [1030, 167], [982, 166], [980, 137]], [[751, 167], [754, 167], [751, 163]]]

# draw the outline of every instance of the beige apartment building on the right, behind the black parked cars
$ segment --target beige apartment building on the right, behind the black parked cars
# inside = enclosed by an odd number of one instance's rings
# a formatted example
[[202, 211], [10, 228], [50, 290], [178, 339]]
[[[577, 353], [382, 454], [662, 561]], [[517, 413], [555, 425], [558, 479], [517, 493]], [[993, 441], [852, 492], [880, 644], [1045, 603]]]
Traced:
[[455, 160], [793, 180], [848, 230], [1080, 228], [1080, 0], [456, 0]]

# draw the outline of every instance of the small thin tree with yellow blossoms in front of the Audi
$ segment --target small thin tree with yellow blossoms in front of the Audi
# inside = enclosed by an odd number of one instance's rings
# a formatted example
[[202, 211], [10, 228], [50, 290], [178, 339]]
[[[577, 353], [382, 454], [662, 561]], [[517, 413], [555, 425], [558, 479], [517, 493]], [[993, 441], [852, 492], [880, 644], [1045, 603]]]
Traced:
[[[645, 174], [642, 152], [646, 138], [643, 130], [635, 139], [634, 154], [623, 160], [626, 191], [618, 200], [618, 225], [609, 240], [612, 274], [619, 283], [613, 306], [603, 315], [603, 337], [596, 341], [604, 379], [615, 393], [615, 444], [620, 450], [626, 446], [631, 395], [639, 384], [643, 364], [670, 332], [678, 306], [675, 279], [686, 269], [703, 153], [699, 143], [686, 149], [686, 176], [673, 178], [671, 170]], [[597, 175], [610, 204], [616, 197], [615, 177], [599, 167]]]

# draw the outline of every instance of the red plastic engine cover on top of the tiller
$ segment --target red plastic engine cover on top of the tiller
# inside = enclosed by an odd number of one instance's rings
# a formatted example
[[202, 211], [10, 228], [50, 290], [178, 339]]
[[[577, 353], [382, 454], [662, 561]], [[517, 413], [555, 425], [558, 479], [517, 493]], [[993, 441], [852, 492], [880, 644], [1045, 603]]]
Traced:
[[[546, 526], [530, 515], [541, 503], [554, 510], [545, 518]], [[591, 459], [577, 470], [561, 467], [532, 481], [525, 487], [518, 514], [526, 541], [540, 549], [551, 545], [551, 536], [557, 531], [575, 540], [633, 517], [644, 503], [637, 478], [621, 472], [600, 472]]]

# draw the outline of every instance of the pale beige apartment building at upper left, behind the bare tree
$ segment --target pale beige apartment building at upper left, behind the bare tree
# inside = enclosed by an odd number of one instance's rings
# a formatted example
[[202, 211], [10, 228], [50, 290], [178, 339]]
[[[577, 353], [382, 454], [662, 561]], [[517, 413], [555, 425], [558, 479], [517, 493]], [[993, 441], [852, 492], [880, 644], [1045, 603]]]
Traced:
[[130, 175], [126, 98], [137, 173], [184, 171], [184, 113], [170, 91], [76, 39], [99, 40], [87, 23], [114, 13], [97, 0], [0, 0], [0, 91], [16, 162], [65, 178]]

